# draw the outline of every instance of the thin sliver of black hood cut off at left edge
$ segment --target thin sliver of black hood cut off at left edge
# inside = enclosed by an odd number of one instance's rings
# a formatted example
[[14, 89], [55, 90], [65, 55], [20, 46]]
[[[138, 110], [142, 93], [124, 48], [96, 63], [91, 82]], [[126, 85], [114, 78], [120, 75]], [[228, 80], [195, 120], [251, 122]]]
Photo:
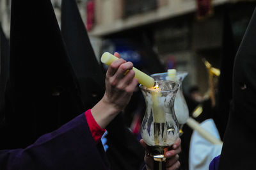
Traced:
[[9, 41], [4, 35], [0, 22], [0, 126], [4, 123], [4, 115], [6, 114], [6, 85], [9, 78]]

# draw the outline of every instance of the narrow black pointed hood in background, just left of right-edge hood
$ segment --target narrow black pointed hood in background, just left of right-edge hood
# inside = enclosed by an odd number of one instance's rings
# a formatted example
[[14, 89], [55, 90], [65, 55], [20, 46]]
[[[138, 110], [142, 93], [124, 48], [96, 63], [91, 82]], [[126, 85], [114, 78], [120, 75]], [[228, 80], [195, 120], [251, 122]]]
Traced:
[[214, 113], [214, 122], [218, 128], [221, 140], [223, 140], [223, 135], [227, 127], [228, 114], [232, 100], [232, 74], [237, 51], [232, 31], [232, 23], [230, 20], [230, 6], [225, 7], [223, 19], [223, 49], [220, 67], [221, 74], [218, 83], [216, 112]]

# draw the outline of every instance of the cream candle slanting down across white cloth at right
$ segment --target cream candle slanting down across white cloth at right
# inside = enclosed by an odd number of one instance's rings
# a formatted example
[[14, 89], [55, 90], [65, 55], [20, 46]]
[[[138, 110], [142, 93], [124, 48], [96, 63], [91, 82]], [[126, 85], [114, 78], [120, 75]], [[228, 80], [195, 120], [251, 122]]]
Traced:
[[200, 134], [204, 139], [209, 141], [212, 144], [223, 144], [222, 141], [214, 137], [212, 134], [204, 130], [204, 128], [200, 127], [200, 124], [195, 121], [193, 118], [188, 118], [187, 125], [191, 127], [193, 130], [196, 130], [198, 134]]

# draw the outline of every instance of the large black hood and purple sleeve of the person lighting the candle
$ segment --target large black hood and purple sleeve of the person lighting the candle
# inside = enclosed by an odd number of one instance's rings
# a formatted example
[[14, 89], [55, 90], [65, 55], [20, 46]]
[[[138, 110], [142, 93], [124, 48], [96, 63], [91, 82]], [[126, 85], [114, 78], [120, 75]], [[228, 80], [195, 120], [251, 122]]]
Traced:
[[10, 135], [1, 134], [0, 169], [109, 169], [84, 116], [51, 1], [12, 1], [10, 49], [13, 110], [5, 116]]

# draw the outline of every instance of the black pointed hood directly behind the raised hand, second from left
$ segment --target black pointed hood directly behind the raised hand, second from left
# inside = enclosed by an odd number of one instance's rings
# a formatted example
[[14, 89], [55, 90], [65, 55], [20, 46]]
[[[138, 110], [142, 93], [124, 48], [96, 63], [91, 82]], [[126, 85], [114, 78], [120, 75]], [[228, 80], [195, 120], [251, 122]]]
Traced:
[[92, 108], [104, 95], [104, 75], [74, 0], [62, 1], [61, 32], [77, 75], [84, 106]]

